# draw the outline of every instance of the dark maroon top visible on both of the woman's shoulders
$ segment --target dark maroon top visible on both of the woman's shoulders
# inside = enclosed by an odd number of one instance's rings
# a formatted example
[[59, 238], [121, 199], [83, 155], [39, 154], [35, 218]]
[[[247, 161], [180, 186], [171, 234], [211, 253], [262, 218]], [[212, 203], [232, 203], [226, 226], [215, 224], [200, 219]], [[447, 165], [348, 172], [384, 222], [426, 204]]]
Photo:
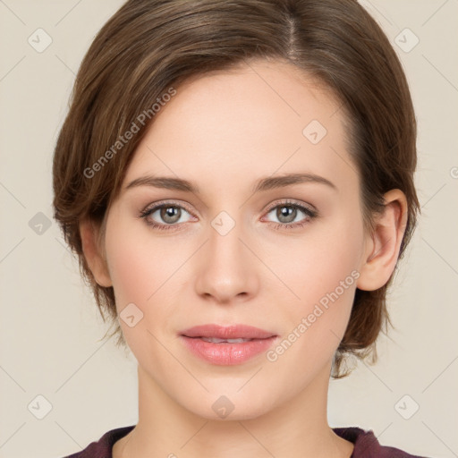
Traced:
[[[112, 449], [116, 441], [126, 436], [133, 426], [125, 426], [107, 431], [98, 442], [91, 442], [84, 450], [77, 454], [70, 454], [64, 458], [113, 458]], [[339, 437], [352, 442], [354, 450], [351, 458], [425, 458], [418, 455], [406, 454], [399, 448], [380, 445], [372, 430], [352, 428], [333, 428]]]

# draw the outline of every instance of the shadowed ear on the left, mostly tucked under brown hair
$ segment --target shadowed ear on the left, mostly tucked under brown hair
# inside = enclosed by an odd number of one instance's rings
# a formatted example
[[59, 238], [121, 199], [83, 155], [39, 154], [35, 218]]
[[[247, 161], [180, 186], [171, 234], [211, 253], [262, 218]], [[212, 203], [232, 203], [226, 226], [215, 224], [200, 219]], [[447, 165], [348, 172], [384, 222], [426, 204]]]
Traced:
[[80, 223], [82, 250], [92, 275], [100, 286], [113, 286], [105, 256], [100, 248], [100, 227], [89, 219]]

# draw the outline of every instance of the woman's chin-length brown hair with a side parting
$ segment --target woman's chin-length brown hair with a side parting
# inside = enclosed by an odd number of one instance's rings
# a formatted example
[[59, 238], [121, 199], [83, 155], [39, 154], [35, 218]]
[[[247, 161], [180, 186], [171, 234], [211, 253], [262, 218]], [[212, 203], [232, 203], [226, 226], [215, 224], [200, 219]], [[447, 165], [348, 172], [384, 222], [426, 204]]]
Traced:
[[[341, 101], [352, 126], [350, 153], [360, 174], [365, 228], [373, 230], [386, 191], [400, 189], [406, 195], [402, 257], [420, 212], [413, 182], [416, 121], [402, 65], [357, 1], [130, 0], [99, 31], [81, 63], [53, 168], [55, 219], [78, 255], [102, 318], [106, 311], [115, 325], [118, 345], [125, 341], [114, 290], [99, 286], [89, 270], [81, 219], [104, 222], [144, 127], [154, 121], [165, 94], [203, 73], [270, 58], [317, 77]], [[139, 127], [140, 114], [147, 122], [137, 132], [133, 125]], [[134, 134], [127, 141], [128, 131]], [[392, 279], [377, 291], [356, 290], [333, 377], [348, 375], [342, 371], [346, 355], [372, 354], [377, 360], [377, 335], [391, 324], [386, 289]]]

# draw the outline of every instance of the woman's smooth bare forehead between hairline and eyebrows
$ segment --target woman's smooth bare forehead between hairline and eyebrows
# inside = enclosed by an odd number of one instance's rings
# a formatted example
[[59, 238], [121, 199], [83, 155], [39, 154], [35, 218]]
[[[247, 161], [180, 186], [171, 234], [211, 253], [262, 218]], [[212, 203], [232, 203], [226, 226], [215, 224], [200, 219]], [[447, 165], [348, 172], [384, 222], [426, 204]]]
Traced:
[[[310, 171], [352, 174], [341, 104], [291, 64], [258, 61], [200, 75], [148, 127], [124, 182], [145, 174], [193, 181]], [[344, 171], [344, 168], [350, 170]]]

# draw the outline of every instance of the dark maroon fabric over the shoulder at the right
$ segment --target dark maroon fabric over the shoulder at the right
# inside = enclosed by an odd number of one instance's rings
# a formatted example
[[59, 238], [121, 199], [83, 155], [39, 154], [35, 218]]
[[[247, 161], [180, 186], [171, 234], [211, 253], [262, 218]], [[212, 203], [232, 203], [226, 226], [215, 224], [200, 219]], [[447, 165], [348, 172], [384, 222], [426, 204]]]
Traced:
[[399, 448], [380, 445], [374, 432], [369, 429], [333, 428], [335, 434], [354, 445], [351, 458], [427, 458], [414, 454], [408, 454]]

